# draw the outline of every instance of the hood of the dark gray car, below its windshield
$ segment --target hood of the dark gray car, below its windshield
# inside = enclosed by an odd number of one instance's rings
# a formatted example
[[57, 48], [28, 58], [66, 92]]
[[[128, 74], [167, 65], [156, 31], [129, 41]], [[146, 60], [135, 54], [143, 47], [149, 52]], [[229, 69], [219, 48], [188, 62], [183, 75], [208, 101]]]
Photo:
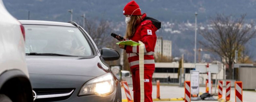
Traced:
[[98, 77], [109, 71], [99, 56], [78, 58], [66, 56], [26, 56], [29, 74], [81, 75]]

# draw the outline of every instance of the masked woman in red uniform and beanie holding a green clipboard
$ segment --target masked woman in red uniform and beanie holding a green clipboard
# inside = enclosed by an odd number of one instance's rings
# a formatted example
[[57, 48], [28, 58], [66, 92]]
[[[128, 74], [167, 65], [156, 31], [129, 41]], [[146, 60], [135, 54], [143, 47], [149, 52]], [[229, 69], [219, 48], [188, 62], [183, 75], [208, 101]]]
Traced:
[[[127, 23], [125, 38], [138, 42], [142, 41], [144, 47], [144, 91], [145, 102], [152, 102], [152, 75], [155, 70], [154, 49], [156, 44], [156, 31], [161, 28], [161, 22], [141, 14], [141, 9], [135, 1], [125, 5], [123, 9]], [[132, 72], [134, 102], [140, 102], [140, 76], [138, 46], [119, 45], [126, 50]]]

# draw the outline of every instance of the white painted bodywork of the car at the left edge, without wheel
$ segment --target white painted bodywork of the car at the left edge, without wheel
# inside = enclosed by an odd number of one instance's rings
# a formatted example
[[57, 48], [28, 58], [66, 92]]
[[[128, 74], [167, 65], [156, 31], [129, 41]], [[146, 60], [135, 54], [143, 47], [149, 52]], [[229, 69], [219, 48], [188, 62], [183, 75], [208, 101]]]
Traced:
[[20, 22], [6, 10], [0, 0], [0, 74], [18, 69], [28, 76], [24, 38]]

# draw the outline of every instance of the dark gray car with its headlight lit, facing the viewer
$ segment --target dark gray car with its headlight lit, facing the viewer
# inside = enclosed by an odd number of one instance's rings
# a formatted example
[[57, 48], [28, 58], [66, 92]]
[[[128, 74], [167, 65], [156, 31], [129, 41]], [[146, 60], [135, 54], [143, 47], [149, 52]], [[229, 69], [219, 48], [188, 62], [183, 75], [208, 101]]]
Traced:
[[26, 61], [35, 102], [121, 102], [121, 87], [105, 61], [113, 49], [98, 50], [75, 22], [20, 20], [26, 32]]

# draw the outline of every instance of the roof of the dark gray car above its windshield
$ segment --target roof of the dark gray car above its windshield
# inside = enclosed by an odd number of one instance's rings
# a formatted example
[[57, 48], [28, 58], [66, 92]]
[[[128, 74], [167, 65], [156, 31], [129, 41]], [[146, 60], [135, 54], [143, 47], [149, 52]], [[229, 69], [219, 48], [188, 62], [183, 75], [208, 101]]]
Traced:
[[31, 25], [57, 25], [57, 26], [67, 26], [67, 27], [76, 27], [71, 23], [66, 22], [55, 22], [55, 21], [41, 21], [41, 20], [19, 20], [22, 24], [31, 24]]

